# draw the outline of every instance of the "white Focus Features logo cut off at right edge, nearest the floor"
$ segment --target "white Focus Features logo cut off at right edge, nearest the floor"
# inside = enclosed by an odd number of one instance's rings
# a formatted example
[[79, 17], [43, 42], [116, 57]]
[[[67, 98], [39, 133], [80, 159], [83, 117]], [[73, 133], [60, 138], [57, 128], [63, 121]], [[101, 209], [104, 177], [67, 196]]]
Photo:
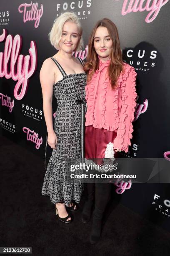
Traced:
[[159, 195], [154, 195], [153, 197], [153, 205], [157, 204], [155, 210], [157, 210], [158, 212], [162, 213], [163, 215], [165, 215], [166, 217], [170, 217], [170, 200], [165, 199], [163, 200], [163, 203], [159, 204], [157, 202], [157, 200], [160, 199]]

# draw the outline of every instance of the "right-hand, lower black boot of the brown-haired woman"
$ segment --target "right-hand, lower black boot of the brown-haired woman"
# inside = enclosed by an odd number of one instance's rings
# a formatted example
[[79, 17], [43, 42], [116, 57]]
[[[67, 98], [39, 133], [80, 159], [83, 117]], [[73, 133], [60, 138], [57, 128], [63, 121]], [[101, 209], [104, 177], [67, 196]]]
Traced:
[[92, 229], [90, 233], [90, 243], [95, 244], [100, 239], [101, 227], [102, 227], [102, 215], [103, 211], [95, 207], [92, 220]]

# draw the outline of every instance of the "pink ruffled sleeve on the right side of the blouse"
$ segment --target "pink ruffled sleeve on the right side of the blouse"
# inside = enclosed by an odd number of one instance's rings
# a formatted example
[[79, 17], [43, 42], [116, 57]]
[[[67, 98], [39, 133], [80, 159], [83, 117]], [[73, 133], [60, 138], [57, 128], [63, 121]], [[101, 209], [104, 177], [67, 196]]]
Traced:
[[125, 74], [122, 76], [122, 107], [120, 110], [120, 124], [117, 129], [117, 136], [114, 140], [114, 148], [128, 152], [128, 147], [131, 145], [130, 139], [133, 137], [133, 120], [136, 106], [135, 81], [136, 75], [134, 67], [126, 66]]

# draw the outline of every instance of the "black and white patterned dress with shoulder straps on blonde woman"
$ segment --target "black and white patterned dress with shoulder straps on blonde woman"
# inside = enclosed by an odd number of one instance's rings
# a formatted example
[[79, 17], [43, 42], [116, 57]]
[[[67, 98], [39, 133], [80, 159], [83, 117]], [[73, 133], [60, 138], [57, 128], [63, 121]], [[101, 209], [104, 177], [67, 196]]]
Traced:
[[[52, 155], [47, 164], [42, 195], [49, 195], [52, 203], [65, 201], [69, 206], [72, 200], [80, 202], [83, 184], [67, 182], [66, 176], [70, 171], [67, 168], [67, 159], [83, 158], [83, 133], [84, 133], [84, 108], [85, 73], [66, 74], [60, 64], [55, 62], [63, 78], [54, 84], [53, 92], [57, 99], [55, 115], [55, 134], [58, 138], [57, 148], [52, 150]], [[83, 62], [80, 58], [80, 63]], [[47, 143], [46, 143], [47, 145]]]

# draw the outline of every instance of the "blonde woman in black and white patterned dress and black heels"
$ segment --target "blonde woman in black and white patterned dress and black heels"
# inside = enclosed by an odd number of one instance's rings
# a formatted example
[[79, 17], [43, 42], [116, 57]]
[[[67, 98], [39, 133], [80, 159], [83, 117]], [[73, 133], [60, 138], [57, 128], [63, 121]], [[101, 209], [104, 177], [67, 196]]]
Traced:
[[[74, 13], [66, 12], [54, 20], [49, 39], [57, 53], [46, 59], [40, 70], [47, 143], [53, 149], [47, 165], [42, 195], [49, 195], [60, 221], [70, 223], [70, 210], [77, 210], [81, 182], [68, 182], [67, 159], [83, 157], [83, 114], [86, 74], [83, 61], [72, 51], [82, 48], [82, 27]], [[52, 125], [52, 94], [57, 100], [55, 129]], [[75, 202], [73, 202], [74, 200]]]

